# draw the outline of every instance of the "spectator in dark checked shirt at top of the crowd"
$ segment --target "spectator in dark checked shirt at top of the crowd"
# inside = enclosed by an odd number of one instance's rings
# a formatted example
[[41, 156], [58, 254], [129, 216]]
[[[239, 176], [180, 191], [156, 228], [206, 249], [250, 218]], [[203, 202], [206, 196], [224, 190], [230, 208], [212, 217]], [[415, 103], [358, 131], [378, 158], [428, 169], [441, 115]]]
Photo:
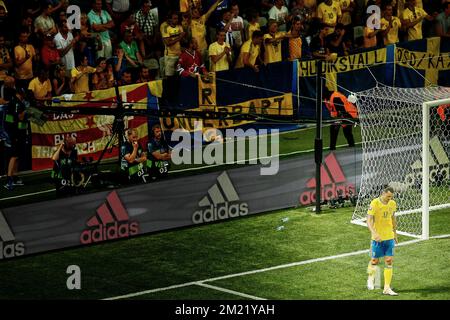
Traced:
[[154, 16], [151, 8], [152, 2], [149, 0], [145, 0], [142, 4], [141, 9], [138, 10], [135, 15], [136, 23], [139, 27], [139, 30], [141, 30], [143, 34], [143, 46], [141, 46], [140, 48], [143, 57], [152, 54], [154, 46], [157, 42], [157, 17]]

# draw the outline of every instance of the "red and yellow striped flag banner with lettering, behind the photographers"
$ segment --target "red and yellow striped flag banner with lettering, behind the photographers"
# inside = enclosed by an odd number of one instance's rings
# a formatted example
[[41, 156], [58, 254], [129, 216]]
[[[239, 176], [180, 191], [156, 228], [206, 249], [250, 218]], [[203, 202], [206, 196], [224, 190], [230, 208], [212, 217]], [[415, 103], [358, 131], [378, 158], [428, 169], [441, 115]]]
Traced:
[[[161, 87], [160, 84], [155, 85], [155, 83], [140, 83], [119, 87], [119, 93], [124, 103], [134, 103], [134, 109], [157, 109], [158, 100], [156, 96], [161, 96], [161, 92], [155, 90], [155, 88]], [[102, 107], [98, 102], [104, 102], [104, 106], [114, 107], [116, 92], [114, 88], [111, 88], [65, 95], [58, 97], [58, 99], [64, 101], [64, 103], [58, 105], [63, 107]], [[74, 102], [70, 103], [70, 101]], [[80, 103], [79, 101], [86, 102]], [[93, 103], [94, 101], [95, 103]], [[48, 118], [43, 126], [31, 123], [33, 170], [53, 167], [51, 157], [67, 134], [76, 137], [78, 155], [80, 157], [92, 157], [94, 161], [98, 160], [113, 134], [113, 116], [49, 114]], [[148, 141], [147, 117], [126, 117], [125, 128], [136, 128], [139, 134], [139, 142], [143, 146], [146, 145]], [[105, 153], [104, 159], [117, 157], [118, 154], [118, 148], [113, 148], [111, 153]]]

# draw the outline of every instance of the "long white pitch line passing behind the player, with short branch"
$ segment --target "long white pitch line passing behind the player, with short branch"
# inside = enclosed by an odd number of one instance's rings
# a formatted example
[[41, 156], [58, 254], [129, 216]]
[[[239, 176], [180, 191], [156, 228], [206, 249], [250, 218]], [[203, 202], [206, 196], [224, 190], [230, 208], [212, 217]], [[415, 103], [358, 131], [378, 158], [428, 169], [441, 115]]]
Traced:
[[[442, 239], [442, 238], [450, 238], [450, 234], [430, 237], [430, 239]], [[426, 241], [426, 240], [422, 240], [422, 239], [409, 240], [409, 241], [405, 241], [405, 242], [399, 243], [397, 246], [399, 246], [399, 247], [400, 246], [406, 246], [406, 245], [410, 245], [410, 244], [418, 243], [418, 242], [422, 242], [422, 241]], [[364, 254], [364, 253], [369, 253], [369, 249], [353, 251], [353, 252], [347, 252], [347, 253], [342, 253], [342, 254], [338, 254], [338, 255], [322, 257], [322, 258], [303, 260], [303, 261], [298, 261], [298, 262], [293, 262], [293, 263], [288, 263], [288, 264], [282, 264], [282, 265], [273, 266], [273, 267], [264, 268], [264, 269], [256, 269], [256, 270], [251, 270], [251, 271], [246, 271], [246, 272], [234, 273], [234, 274], [229, 274], [229, 275], [225, 275], [225, 276], [221, 276], [221, 277], [209, 278], [209, 279], [205, 279], [205, 280], [186, 282], [186, 283], [173, 285], [173, 286], [169, 286], [169, 287], [162, 287], [162, 288], [150, 289], [150, 290], [145, 290], [145, 291], [139, 291], [139, 292], [130, 293], [130, 294], [122, 295], [122, 296], [106, 298], [106, 299], [103, 299], [103, 300], [127, 299], [127, 298], [133, 298], [133, 297], [137, 297], [137, 296], [142, 296], [142, 295], [149, 294], [149, 293], [155, 293], [155, 292], [166, 291], [166, 290], [171, 290], [171, 289], [177, 289], [177, 288], [182, 288], [182, 287], [189, 287], [189, 286], [193, 286], [193, 285], [201, 285], [201, 286], [204, 286], [204, 287], [209, 286], [211, 289], [214, 289], [215, 286], [205, 285], [204, 282], [212, 282], [212, 281], [218, 281], [218, 280], [223, 280], [223, 279], [241, 277], [241, 276], [245, 276], [245, 275], [251, 275], [251, 274], [256, 274], [256, 273], [261, 273], [261, 272], [277, 270], [277, 269], [284, 269], [284, 268], [296, 267], [296, 266], [305, 265], [305, 264], [311, 264], [311, 263], [315, 263], [315, 262], [322, 262], [322, 261], [327, 261], [327, 260], [334, 260], [334, 259], [339, 259], [339, 258], [356, 256], [356, 255], [360, 255], [360, 254]], [[220, 287], [216, 287], [216, 288], [220, 288]], [[222, 290], [223, 288], [220, 288], [220, 289]], [[223, 290], [228, 290], [228, 289], [223, 289]], [[224, 291], [224, 292], [231, 293], [230, 291], [231, 290]], [[242, 295], [242, 293], [239, 293], [239, 294]]]

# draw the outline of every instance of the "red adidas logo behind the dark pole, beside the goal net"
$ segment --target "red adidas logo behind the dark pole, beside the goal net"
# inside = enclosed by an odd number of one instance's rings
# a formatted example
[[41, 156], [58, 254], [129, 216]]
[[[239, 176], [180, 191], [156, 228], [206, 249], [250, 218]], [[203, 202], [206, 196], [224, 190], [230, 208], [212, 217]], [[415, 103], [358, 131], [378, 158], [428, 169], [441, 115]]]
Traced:
[[[352, 183], [347, 183], [347, 178], [342, 171], [342, 167], [336, 159], [334, 153], [325, 157], [325, 164], [320, 167], [321, 174], [321, 199], [336, 199], [339, 194], [346, 197], [350, 192], [355, 194], [356, 188]], [[302, 205], [310, 205], [316, 201], [316, 178], [309, 179], [306, 186], [310, 191], [305, 191], [300, 195]]]

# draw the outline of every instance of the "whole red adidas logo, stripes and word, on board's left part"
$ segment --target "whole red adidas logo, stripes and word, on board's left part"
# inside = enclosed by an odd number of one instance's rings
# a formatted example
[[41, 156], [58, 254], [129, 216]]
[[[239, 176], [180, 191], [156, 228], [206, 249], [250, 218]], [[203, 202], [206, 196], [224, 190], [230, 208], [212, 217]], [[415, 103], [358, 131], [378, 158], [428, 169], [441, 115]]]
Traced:
[[86, 225], [89, 229], [81, 233], [82, 244], [90, 244], [112, 239], [128, 238], [139, 233], [139, 224], [129, 221], [130, 217], [116, 191], [106, 197], [95, 216]]

